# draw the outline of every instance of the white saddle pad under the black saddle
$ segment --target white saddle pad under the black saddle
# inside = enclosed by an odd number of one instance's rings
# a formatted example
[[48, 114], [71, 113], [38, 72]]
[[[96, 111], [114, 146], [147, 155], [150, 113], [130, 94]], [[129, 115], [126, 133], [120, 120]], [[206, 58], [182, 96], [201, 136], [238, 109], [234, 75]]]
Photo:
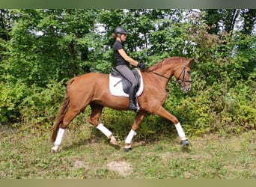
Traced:
[[[137, 71], [140, 75], [141, 85], [138, 88], [136, 96], [140, 96], [141, 93], [143, 92], [144, 85], [143, 85], [143, 79], [141, 76], [141, 71], [140, 70], [137, 70]], [[121, 78], [112, 76], [111, 73], [109, 74], [109, 91], [113, 96], [129, 97], [129, 95], [123, 91], [123, 84], [121, 82]]]

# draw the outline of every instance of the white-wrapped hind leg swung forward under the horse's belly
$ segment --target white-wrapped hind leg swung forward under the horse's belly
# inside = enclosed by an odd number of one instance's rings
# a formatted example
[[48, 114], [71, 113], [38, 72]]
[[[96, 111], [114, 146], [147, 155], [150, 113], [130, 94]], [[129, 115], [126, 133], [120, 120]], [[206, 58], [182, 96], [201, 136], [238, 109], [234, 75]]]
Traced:
[[103, 111], [102, 105], [97, 105], [95, 103], [92, 103], [91, 104], [91, 117], [90, 117], [89, 123], [94, 125], [101, 132], [103, 132], [103, 134], [106, 135], [106, 137], [110, 139], [111, 144], [118, 145], [118, 141], [116, 141], [112, 132], [109, 131], [109, 129], [107, 129], [106, 126], [103, 125], [103, 123], [100, 123], [100, 115], [102, 114], [102, 111]]

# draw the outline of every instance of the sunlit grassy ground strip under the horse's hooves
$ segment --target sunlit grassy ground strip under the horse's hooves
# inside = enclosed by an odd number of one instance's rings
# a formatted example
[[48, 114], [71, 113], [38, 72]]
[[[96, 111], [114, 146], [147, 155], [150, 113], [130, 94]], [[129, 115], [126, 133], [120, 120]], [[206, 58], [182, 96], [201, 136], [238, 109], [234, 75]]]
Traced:
[[0, 178], [256, 179], [255, 130], [191, 138], [189, 150], [176, 137], [134, 138], [124, 153], [124, 140], [112, 147], [94, 127], [79, 126], [67, 130], [57, 154], [50, 152], [51, 129], [0, 130]]

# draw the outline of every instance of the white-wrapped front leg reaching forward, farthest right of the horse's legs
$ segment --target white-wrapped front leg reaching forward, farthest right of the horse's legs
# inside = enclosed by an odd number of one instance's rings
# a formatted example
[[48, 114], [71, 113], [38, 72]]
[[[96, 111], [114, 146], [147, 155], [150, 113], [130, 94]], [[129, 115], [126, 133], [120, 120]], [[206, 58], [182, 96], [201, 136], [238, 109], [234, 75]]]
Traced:
[[180, 136], [180, 144], [182, 146], [189, 146], [189, 140], [186, 138], [185, 132], [183, 131], [182, 126], [180, 125], [179, 120], [177, 120], [177, 117], [175, 117], [173, 114], [170, 114], [165, 108], [162, 106], [159, 106], [156, 111], [153, 111], [153, 114], [157, 114], [161, 117], [164, 117], [167, 120], [171, 120], [176, 127], [177, 133]]

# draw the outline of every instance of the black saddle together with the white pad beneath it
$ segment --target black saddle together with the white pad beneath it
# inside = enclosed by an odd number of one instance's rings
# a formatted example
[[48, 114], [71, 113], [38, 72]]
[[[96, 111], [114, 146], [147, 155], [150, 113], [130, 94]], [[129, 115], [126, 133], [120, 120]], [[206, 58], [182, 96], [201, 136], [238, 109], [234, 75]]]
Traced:
[[[141, 72], [139, 70], [132, 70], [135, 78], [138, 80], [138, 86], [136, 90], [136, 96], [141, 95], [143, 91], [143, 80], [141, 76]], [[114, 67], [112, 67], [112, 71], [109, 75], [109, 90], [110, 93], [114, 96], [129, 96], [129, 88], [132, 83], [129, 82], [121, 73], [118, 72]]]

